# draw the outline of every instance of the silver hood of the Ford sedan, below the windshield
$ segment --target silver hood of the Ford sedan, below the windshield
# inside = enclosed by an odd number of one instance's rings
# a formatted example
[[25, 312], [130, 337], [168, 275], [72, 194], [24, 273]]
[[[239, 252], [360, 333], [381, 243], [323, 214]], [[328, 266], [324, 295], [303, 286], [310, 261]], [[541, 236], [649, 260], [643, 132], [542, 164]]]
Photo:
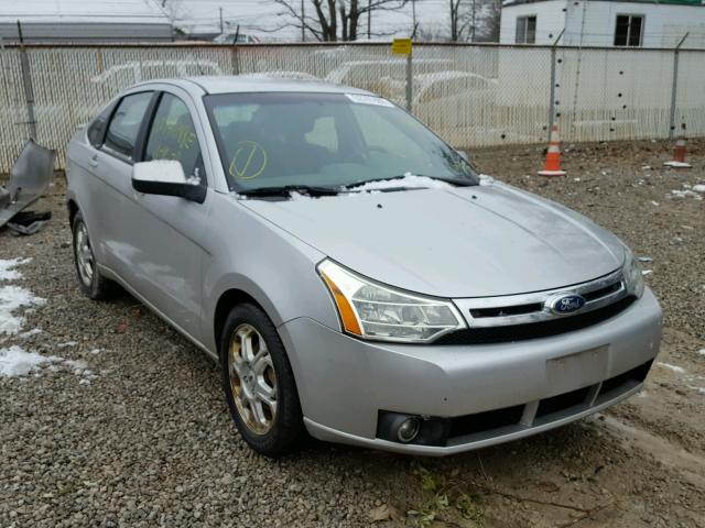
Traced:
[[357, 273], [440, 297], [541, 292], [623, 261], [608, 231], [497, 183], [241, 204]]

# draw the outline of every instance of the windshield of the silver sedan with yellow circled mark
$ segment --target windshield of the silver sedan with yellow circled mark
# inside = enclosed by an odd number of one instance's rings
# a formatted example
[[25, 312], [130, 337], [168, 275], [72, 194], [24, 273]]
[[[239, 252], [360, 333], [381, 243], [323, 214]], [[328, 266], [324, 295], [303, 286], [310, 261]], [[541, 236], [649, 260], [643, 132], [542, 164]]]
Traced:
[[267, 92], [205, 101], [232, 190], [339, 188], [405, 174], [478, 183], [460, 154], [378, 97]]

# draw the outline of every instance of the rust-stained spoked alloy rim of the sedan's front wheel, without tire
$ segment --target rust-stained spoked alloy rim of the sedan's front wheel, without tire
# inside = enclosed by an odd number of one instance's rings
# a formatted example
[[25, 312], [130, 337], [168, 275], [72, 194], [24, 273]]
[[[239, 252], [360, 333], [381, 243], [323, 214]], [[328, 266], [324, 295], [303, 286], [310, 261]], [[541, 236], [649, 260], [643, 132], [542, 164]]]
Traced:
[[256, 435], [265, 435], [276, 417], [276, 376], [264, 338], [240, 324], [228, 348], [230, 391], [240, 418]]

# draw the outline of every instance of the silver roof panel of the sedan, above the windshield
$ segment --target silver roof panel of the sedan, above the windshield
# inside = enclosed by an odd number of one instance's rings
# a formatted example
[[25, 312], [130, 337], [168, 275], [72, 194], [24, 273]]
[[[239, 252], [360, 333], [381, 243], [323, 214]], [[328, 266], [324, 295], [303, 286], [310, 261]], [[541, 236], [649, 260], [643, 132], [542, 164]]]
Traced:
[[141, 82], [149, 85], [154, 82], [169, 82], [178, 85], [186, 90], [193, 90], [194, 85], [199, 86], [208, 94], [235, 94], [235, 92], [318, 92], [318, 94], [360, 94], [372, 95], [369, 91], [350, 86], [326, 82], [318, 79], [289, 79], [284, 77], [252, 77], [237, 75], [197, 76], [172, 79], [153, 79]]

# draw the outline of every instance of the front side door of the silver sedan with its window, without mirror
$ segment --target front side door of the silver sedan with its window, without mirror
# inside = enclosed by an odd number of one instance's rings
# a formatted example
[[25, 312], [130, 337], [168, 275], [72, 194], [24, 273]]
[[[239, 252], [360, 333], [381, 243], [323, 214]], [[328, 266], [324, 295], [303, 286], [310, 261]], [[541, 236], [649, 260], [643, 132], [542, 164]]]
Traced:
[[[142, 161], [175, 160], [187, 178], [207, 186], [207, 174], [198, 133], [187, 96], [164, 91], [155, 106], [144, 139]], [[203, 204], [173, 196], [135, 190], [132, 199], [138, 218], [132, 219], [132, 240], [140, 253], [140, 293], [164, 316], [198, 341], [202, 336], [202, 268], [207, 250], [202, 245], [207, 212]]]

